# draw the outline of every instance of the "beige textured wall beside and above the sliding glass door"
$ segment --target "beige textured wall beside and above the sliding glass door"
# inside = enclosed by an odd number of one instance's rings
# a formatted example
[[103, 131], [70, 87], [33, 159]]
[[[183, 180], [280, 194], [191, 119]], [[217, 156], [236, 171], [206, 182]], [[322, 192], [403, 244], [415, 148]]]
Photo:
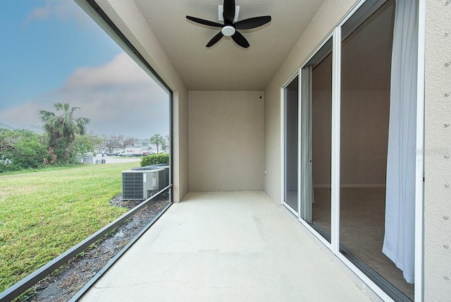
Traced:
[[264, 190], [280, 205], [280, 87], [307, 59], [309, 54], [333, 30], [356, 0], [326, 0], [302, 33], [265, 89], [265, 176]]

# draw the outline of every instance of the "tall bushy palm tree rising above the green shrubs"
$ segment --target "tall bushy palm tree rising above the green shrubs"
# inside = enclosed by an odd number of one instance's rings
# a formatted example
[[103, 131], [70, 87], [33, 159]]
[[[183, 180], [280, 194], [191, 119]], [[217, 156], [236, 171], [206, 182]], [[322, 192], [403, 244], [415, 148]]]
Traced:
[[[55, 103], [57, 114], [51, 111], [39, 110], [39, 119], [44, 122], [44, 131], [49, 135], [49, 148], [56, 155], [57, 161], [70, 162], [73, 158], [73, 143], [75, 135], [84, 135], [89, 119], [74, 117], [80, 107], [69, 107], [68, 103]], [[58, 114], [58, 111], [62, 111]]]

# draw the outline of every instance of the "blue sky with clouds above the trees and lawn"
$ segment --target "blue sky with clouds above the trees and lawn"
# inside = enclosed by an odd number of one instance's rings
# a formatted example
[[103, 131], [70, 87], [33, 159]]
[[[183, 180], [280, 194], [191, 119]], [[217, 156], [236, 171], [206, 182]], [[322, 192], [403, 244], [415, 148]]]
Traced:
[[169, 134], [168, 94], [75, 1], [4, 1], [0, 41], [0, 123], [40, 131], [66, 102], [97, 135]]

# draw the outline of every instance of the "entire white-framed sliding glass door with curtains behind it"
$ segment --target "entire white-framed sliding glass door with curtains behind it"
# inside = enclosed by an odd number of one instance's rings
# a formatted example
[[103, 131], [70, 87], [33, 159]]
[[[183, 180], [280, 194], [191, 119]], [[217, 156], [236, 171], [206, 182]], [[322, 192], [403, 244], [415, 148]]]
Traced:
[[283, 90], [284, 205], [395, 301], [414, 299], [416, 5], [363, 2]]

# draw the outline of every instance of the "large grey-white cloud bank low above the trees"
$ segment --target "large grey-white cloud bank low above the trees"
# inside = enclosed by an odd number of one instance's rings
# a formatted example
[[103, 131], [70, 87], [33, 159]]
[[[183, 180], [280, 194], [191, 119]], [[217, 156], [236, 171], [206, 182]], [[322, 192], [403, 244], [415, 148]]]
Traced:
[[[127, 54], [104, 66], [78, 68], [61, 89], [0, 111], [0, 121], [17, 128], [41, 124], [39, 109], [53, 111], [55, 102], [80, 107], [77, 116], [91, 119], [88, 131], [149, 138], [168, 133], [168, 95]], [[23, 125], [23, 126], [19, 126]]]

